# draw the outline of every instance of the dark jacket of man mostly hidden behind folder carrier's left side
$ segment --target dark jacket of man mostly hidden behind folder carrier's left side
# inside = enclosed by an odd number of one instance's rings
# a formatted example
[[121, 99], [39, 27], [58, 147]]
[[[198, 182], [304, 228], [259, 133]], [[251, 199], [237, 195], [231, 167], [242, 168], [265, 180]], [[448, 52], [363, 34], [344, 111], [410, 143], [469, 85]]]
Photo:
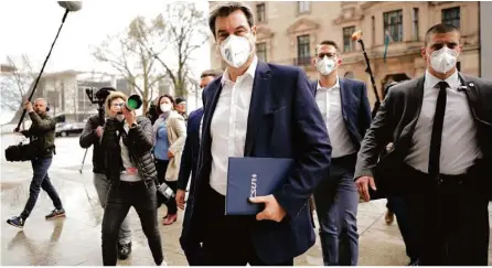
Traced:
[[[184, 143], [183, 154], [181, 156], [180, 175], [178, 176], [178, 189], [181, 190], [186, 190], [190, 173], [192, 181], [196, 175], [200, 150], [200, 122], [202, 117], [203, 108], [199, 108], [192, 111], [188, 118], [186, 141]], [[190, 195], [191, 191], [192, 189], [190, 189]]]

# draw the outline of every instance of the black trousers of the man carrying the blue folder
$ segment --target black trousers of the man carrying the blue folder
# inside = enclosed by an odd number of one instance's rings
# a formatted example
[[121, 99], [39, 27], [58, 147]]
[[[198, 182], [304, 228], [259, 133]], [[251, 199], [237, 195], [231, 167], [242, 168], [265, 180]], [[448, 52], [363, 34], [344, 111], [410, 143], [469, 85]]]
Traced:
[[255, 216], [225, 216], [225, 197], [208, 189], [203, 251], [206, 266], [292, 266], [293, 259], [265, 264], [255, 253], [249, 232]]

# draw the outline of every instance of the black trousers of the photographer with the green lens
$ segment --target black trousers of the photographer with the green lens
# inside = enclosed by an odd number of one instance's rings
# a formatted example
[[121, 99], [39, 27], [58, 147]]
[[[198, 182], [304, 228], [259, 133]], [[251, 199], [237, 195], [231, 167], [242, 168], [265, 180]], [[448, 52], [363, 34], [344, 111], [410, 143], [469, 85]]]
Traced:
[[131, 206], [140, 218], [156, 265], [161, 265], [164, 257], [157, 223], [156, 185], [143, 181], [115, 182], [109, 189], [103, 217], [103, 264], [116, 265], [119, 227]]

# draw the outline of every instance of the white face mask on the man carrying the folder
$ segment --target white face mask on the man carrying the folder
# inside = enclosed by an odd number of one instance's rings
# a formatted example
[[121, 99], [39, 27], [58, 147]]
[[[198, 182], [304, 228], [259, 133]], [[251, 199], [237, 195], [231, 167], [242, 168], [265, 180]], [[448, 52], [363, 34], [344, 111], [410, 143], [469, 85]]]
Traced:
[[232, 67], [243, 66], [252, 55], [252, 43], [246, 36], [231, 34], [221, 44], [221, 56]]

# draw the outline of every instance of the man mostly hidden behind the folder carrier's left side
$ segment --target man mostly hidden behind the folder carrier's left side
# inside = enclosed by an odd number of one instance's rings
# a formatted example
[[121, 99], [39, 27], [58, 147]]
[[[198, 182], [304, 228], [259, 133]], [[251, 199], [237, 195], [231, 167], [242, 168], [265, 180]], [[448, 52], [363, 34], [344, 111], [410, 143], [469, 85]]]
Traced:
[[[200, 88], [204, 88], [214, 78], [222, 75], [220, 71], [205, 71], [200, 77]], [[183, 154], [181, 157], [180, 175], [178, 178], [178, 192], [177, 192], [177, 204], [181, 210], [184, 210], [184, 195], [186, 193], [188, 182], [194, 181], [196, 175], [196, 164], [199, 162], [199, 150], [200, 150], [200, 135], [202, 126], [203, 108], [199, 108], [190, 114], [188, 118], [186, 126], [186, 142], [184, 143]], [[183, 229], [180, 237], [181, 248], [186, 256], [188, 264], [191, 266], [199, 266], [203, 264], [203, 249], [200, 245], [200, 240], [194, 240], [193, 235], [191, 235], [191, 229], [189, 228], [190, 212], [191, 206], [193, 206], [193, 183], [190, 187], [190, 197], [188, 199], [188, 208], [184, 212]]]

